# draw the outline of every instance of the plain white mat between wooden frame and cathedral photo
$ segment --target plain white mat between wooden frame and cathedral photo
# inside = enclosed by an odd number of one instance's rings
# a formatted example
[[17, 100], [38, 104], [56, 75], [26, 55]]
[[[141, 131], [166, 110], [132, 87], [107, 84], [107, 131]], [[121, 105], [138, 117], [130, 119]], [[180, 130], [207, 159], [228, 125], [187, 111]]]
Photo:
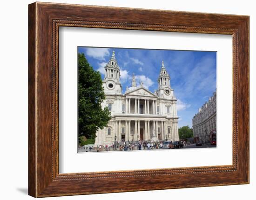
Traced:
[[[216, 51], [217, 148], [77, 153], [78, 46]], [[59, 172], [231, 165], [232, 72], [231, 35], [60, 27]]]

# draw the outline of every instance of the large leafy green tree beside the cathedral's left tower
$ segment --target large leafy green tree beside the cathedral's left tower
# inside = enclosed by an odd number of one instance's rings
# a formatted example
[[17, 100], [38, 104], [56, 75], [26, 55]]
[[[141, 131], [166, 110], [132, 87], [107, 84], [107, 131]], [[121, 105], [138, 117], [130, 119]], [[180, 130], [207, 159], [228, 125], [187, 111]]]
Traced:
[[108, 108], [101, 108], [105, 99], [99, 71], [94, 71], [83, 53], [78, 54], [78, 133], [95, 141], [96, 132], [111, 119]]

